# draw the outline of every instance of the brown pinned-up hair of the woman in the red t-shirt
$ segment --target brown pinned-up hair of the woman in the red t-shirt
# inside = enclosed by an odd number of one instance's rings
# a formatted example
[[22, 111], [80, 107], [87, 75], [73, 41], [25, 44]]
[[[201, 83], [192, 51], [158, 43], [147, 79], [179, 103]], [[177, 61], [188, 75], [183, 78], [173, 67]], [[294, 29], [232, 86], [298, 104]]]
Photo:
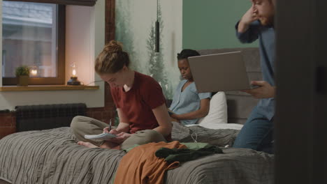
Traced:
[[129, 67], [129, 54], [122, 50], [120, 43], [111, 40], [96, 58], [94, 69], [101, 75], [119, 72], [124, 66]]

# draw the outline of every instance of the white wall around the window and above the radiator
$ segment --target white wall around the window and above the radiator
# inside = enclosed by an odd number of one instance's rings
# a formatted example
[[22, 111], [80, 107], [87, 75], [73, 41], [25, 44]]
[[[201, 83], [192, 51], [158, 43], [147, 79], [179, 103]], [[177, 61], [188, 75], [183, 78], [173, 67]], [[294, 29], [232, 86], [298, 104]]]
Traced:
[[[0, 9], [2, 15], [2, 1]], [[66, 66], [71, 61], [76, 61], [78, 63], [78, 79], [85, 84], [99, 80], [99, 76], [94, 73], [93, 66], [94, 59], [101, 52], [104, 45], [105, 1], [96, 1], [94, 7], [67, 6], [66, 9]], [[0, 22], [2, 25], [2, 19]], [[0, 36], [2, 36], [2, 33]], [[0, 65], [0, 74], [1, 70], [2, 66]], [[68, 79], [68, 75], [66, 70], [66, 79]], [[99, 90], [0, 91], [0, 110], [14, 109], [16, 105], [75, 102], [84, 102], [87, 107], [103, 107], [104, 85], [103, 82], [96, 84], [100, 86]], [[0, 75], [0, 86], [2, 86], [2, 74]]]

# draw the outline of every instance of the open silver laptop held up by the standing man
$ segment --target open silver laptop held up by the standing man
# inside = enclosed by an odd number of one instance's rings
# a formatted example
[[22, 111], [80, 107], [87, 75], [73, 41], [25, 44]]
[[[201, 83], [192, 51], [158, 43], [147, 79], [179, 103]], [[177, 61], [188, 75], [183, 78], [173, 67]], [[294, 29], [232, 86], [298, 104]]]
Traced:
[[251, 89], [241, 52], [189, 57], [198, 93]]

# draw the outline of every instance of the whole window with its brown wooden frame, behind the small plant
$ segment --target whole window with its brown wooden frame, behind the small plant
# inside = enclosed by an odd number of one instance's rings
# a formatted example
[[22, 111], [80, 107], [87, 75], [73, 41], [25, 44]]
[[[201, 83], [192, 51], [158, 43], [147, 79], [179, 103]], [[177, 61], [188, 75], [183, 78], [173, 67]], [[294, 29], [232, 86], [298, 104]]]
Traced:
[[3, 85], [15, 85], [15, 68], [29, 66], [29, 84], [64, 84], [65, 6], [3, 1]]

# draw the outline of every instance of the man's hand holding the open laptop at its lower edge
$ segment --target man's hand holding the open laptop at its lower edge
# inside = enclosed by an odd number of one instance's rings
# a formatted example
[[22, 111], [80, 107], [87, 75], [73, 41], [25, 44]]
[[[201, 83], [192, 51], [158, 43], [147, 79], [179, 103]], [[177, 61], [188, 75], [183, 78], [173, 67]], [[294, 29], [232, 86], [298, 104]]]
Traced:
[[254, 98], [274, 98], [275, 97], [275, 86], [271, 86], [266, 81], [252, 81], [252, 85], [259, 86], [256, 89], [242, 90], [245, 93], [249, 93]]

